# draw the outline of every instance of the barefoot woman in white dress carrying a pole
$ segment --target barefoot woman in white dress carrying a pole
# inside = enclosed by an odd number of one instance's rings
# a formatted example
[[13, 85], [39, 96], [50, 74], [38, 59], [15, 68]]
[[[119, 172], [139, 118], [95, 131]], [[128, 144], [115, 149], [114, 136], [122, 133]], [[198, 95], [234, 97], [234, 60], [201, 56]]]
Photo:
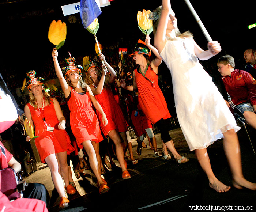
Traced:
[[[161, 17], [160, 17], [161, 16]], [[241, 155], [236, 131], [240, 128], [224, 99], [204, 71], [200, 60], [208, 60], [221, 51], [217, 41], [209, 42], [202, 50], [189, 32], [181, 34], [170, 0], [162, 0], [162, 7], [150, 14], [154, 20], [154, 45], [170, 69], [173, 81], [177, 117], [190, 150], [206, 173], [209, 185], [217, 192], [226, 192], [214, 175], [206, 148], [224, 137], [223, 145], [233, 175], [233, 186], [256, 190], [256, 183], [247, 181], [242, 174]]]

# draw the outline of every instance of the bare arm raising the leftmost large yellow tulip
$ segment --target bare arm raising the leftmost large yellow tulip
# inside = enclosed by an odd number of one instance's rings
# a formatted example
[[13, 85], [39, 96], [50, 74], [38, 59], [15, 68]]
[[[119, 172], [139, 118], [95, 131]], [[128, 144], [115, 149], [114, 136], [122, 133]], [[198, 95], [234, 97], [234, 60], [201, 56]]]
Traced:
[[60, 82], [60, 85], [61, 85], [61, 88], [65, 94], [65, 97], [67, 98], [70, 94], [70, 86], [68, 86], [68, 83], [66, 82], [63, 74], [62, 74], [62, 71], [61, 71], [61, 68], [60, 68], [60, 65], [59, 65], [59, 62], [58, 62], [58, 52], [56, 50], [56, 48], [54, 48], [52, 50], [52, 58], [53, 58], [53, 63], [54, 63], [54, 68], [55, 68], [55, 72], [56, 72], [56, 75], [59, 79], [59, 82]]

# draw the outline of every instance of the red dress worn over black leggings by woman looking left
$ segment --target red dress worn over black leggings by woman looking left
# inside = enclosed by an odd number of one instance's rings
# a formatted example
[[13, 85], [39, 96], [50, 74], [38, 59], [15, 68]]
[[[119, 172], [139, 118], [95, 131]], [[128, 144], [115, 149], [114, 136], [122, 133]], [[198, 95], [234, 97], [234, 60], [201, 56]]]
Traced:
[[148, 67], [146, 72], [148, 81], [141, 73], [135, 69], [135, 82], [139, 93], [139, 105], [146, 117], [155, 124], [161, 118], [167, 119], [171, 115], [161, 89], [158, 86], [158, 76], [153, 69]]

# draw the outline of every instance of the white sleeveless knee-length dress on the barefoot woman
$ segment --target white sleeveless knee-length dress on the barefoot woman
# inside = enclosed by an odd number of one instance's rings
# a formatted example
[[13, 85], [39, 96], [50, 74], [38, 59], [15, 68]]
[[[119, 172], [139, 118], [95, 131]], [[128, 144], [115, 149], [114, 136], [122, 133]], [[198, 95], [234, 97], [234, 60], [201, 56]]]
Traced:
[[190, 151], [208, 147], [223, 138], [222, 132], [240, 129], [190, 38], [168, 40], [160, 56], [172, 75], [177, 117]]

